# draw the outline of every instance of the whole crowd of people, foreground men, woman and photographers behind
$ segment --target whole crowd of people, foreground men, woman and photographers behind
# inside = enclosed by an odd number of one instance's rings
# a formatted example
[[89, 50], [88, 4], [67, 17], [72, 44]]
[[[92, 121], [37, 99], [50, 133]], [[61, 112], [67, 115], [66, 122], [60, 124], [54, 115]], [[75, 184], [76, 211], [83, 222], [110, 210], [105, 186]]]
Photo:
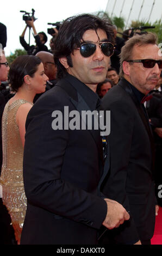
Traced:
[[82, 14], [54, 28], [48, 50], [26, 21], [27, 54], [9, 67], [0, 25], [2, 244], [150, 245], [162, 206], [157, 35], [124, 40]]

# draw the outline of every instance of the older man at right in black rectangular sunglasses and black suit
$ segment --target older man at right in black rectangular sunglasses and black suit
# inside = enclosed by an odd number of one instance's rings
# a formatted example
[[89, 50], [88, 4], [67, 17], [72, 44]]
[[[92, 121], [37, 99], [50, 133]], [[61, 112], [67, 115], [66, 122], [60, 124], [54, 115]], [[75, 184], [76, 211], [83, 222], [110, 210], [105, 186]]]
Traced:
[[103, 97], [111, 111], [110, 175], [103, 193], [130, 211], [130, 220], [107, 231], [103, 243], [148, 245], [154, 234], [154, 141], [144, 106], [162, 69], [153, 33], [135, 35], [122, 47], [120, 82]]

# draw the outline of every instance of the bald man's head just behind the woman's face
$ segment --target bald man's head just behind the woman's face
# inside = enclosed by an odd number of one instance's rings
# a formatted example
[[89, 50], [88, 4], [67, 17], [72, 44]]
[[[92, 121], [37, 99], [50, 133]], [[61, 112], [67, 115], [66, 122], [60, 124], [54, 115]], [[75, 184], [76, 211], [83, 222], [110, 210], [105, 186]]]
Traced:
[[36, 56], [41, 59], [45, 69], [45, 74], [48, 76], [49, 81], [55, 80], [57, 75], [57, 66], [54, 63], [53, 54], [41, 51], [36, 53]]

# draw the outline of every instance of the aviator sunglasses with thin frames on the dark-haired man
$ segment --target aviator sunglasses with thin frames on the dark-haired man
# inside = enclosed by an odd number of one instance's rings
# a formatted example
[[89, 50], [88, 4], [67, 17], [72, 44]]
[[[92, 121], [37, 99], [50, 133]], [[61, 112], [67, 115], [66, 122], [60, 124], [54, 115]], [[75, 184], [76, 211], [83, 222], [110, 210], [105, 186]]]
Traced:
[[80, 45], [80, 54], [85, 58], [90, 57], [96, 51], [97, 45], [105, 56], [110, 57], [113, 55], [115, 47], [111, 42], [84, 42]]

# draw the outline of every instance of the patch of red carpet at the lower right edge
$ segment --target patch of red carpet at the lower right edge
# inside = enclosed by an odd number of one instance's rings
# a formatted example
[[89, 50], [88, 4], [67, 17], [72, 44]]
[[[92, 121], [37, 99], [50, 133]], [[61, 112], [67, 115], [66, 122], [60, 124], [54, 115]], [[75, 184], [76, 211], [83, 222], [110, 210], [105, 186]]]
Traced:
[[155, 231], [151, 244], [162, 245], [162, 207], [159, 207], [158, 216], [156, 216]]

